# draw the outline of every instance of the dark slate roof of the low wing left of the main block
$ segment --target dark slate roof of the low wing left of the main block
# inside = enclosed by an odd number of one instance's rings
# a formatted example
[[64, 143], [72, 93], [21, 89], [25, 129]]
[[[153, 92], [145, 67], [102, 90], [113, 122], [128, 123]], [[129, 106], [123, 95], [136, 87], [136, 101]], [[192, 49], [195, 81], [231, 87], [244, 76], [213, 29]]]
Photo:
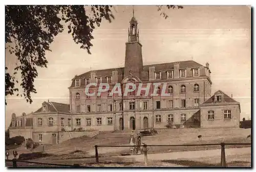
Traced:
[[[70, 113], [69, 104], [57, 103], [57, 102], [43, 102], [43, 104], [48, 104], [48, 112], [59, 112], [59, 113]], [[40, 107], [35, 113], [42, 112], [42, 107]]]

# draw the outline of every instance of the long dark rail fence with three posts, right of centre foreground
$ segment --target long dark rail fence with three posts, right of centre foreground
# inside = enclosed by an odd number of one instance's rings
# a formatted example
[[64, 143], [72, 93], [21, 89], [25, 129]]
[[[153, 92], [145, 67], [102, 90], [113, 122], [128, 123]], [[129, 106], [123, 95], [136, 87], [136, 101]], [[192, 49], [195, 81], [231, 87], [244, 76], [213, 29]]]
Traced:
[[[172, 145], [147, 145], [143, 144], [144, 150], [144, 164], [147, 165], [147, 147], [161, 147], [161, 146], [212, 146], [212, 145], [220, 145], [221, 146], [221, 166], [226, 167], [226, 156], [225, 156], [225, 145], [251, 145], [251, 143], [215, 143], [215, 144], [172, 144]], [[95, 159], [96, 163], [99, 163], [99, 154], [98, 147], [137, 147], [137, 145], [95, 145]]]

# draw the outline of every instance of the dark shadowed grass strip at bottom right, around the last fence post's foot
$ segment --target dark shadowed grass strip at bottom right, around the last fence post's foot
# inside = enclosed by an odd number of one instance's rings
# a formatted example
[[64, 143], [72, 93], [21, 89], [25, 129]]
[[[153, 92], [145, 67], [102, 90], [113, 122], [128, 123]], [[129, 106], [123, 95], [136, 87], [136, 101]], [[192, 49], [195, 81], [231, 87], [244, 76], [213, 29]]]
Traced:
[[[161, 162], [189, 166], [189, 167], [221, 167], [220, 164], [211, 164], [199, 161], [191, 161], [191, 160], [162, 160]], [[227, 163], [227, 166], [248, 166], [248, 161], [231, 161]]]

